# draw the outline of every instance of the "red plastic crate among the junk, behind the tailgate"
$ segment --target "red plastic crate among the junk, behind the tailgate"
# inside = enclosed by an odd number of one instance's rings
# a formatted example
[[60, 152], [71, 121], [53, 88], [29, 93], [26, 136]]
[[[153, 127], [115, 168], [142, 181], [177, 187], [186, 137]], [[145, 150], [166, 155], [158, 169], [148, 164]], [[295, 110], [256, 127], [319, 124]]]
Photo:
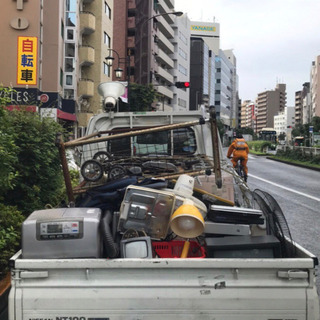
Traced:
[[[159, 258], [180, 258], [185, 241], [152, 242], [155, 256]], [[187, 258], [205, 258], [206, 252], [196, 241], [190, 241]]]

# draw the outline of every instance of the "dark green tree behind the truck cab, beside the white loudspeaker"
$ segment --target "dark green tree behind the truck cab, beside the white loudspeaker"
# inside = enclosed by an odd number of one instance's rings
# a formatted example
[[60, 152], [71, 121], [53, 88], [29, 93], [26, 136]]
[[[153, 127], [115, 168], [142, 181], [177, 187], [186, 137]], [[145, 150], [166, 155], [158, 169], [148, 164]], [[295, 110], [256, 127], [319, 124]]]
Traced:
[[152, 103], [160, 97], [153, 85], [130, 83], [129, 86], [130, 105], [120, 102], [119, 111], [151, 111]]

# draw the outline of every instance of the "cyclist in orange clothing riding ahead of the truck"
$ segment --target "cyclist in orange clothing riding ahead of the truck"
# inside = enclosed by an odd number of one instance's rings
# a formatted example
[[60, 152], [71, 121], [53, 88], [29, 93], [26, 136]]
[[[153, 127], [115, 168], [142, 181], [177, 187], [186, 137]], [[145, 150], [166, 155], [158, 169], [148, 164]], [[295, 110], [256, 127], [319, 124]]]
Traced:
[[[233, 153], [233, 157], [231, 159], [232, 153]], [[237, 165], [237, 162], [239, 159], [243, 159], [241, 160], [241, 164], [243, 166], [243, 171], [244, 171], [244, 181], [246, 182], [248, 178], [248, 167], [247, 167], [248, 153], [249, 153], [249, 147], [246, 141], [243, 139], [242, 134], [238, 133], [236, 139], [234, 139], [234, 141], [231, 143], [228, 149], [227, 157], [231, 159], [233, 167]]]

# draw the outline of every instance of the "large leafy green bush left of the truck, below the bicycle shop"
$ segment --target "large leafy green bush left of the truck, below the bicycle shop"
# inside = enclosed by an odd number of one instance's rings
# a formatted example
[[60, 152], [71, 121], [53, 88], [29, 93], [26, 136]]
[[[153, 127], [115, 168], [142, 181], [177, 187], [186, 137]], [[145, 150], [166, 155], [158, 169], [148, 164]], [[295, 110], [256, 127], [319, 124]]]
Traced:
[[63, 189], [55, 136], [61, 126], [38, 114], [6, 111], [0, 117], [0, 201], [25, 216], [45, 205], [56, 206]]

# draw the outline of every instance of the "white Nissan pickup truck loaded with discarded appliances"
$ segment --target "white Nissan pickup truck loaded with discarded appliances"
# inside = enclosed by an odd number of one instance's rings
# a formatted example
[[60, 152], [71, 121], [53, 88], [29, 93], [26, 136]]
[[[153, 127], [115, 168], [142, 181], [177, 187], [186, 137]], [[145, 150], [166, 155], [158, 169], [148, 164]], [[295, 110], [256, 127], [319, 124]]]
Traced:
[[[181, 123], [188, 125], [172, 127]], [[169, 126], [167, 140], [159, 134], [147, 137], [146, 131], [137, 132], [136, 137], [143, 139], [127, 136], [128, 128], [164, 132], [163, 127], [152, 129], [159, 124]], [[105, 154], [99, 155], [107, 159], [96, 156], [91, 163], [100, 161], [102, 169], [97, 167], [103, 172], [96, 175], [96, 170], [83, 170], [87, 174], [83, 181], [96, 189], [86, 189], [85, 196], [80, 193], [79, 206], [76, 202], [74, 208], [40, 210], [24, 223], [22, 251], [10, 261], [9, 320], [319, 319], [317, 258], [290, 239], [274, 199], [260, 190], [251, 192], [226, 165], [220, 146], [212, 143], [210, 124], [198, 112], [105, 113], [90, 121], [89, 139], [66, 143], [66, 148], [81, 149], [81, 166], [104, 149]], [[118, 140], [108, 140], [115, 134], [112, 130], [121, 128], [126, 130], [117, 132]], [[175, 145], [175, 133], [183, 135], [183, 144]], [[152, 146], [155, 142], [157, 146]], [[117, 151], [122, 152], [122, 160], [125, 155], [140, 160], [121, 163], [125, 176], [119, 170], [110, 174], [112, 166], [119, 166]], [[145, 159], [147, 153], [152, 160]], [[161, 157], [155, 160], [157, 153]], [[208, 167], [214, 166], [214, 157], [219, 165], [210, 175]], [[163, 166], [169, 158], [172, 166]], [[154, 162], [145, 167], [145, 161]], [[172, 222], [183, 198], [170, 185], [149, 190], [130, 184], [120, 207], [103, 206], [117, 202], [119, 193], [117, 189], [108, 198], [110, 190], [102, 195], [97, 194], [99, 188], [133, 179], [128, 166], [136, 168], [134, 173], [140, 168], [142, 176], [144, 171], [148, 175], [150, 165], [157, 177], [165, 174], [168, 180], [181, 174], [195, 176], [189, 198], [195, 200], [204, 220], [201, 235], [174, 238], [167, 228], [166, 219]], [[101, 228], [105, 210], [112, 212], [113, 220]], [[160, 227], [157, 219], [162, 219]], [[191, 245], [187, 257], [181, 258], [173, 249], [185, 242]]]

